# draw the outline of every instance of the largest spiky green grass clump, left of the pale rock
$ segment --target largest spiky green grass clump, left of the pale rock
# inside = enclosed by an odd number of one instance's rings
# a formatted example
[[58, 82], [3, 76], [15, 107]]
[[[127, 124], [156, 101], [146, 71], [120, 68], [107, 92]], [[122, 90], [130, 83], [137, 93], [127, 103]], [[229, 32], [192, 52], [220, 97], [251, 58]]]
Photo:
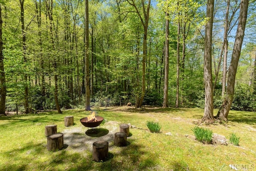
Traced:
[[194, 132], [194, 135], [198, 141], [207, 144], [212, 143], [212, 130], [195, 126], [194, 128], [192, 128], [192, 131]]

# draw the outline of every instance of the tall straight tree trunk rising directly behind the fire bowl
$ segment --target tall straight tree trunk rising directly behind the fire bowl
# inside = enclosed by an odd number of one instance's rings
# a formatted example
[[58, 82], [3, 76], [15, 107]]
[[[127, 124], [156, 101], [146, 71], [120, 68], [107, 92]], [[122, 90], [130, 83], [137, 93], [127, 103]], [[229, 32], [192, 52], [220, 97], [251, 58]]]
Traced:
[[89, 4], [85, 0], [85, 110], [90, 109]]

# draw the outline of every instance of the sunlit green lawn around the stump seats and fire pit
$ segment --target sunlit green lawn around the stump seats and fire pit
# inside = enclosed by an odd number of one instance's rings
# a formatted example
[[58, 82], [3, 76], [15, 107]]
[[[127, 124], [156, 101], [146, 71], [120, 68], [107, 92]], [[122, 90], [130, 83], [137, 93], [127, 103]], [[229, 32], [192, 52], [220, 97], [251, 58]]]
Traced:
[[[239, 170], [256, 170], [255, 112], [230, 111], [227, 123], [204, 124], [200, 122], [204, 110], [198, 108], [108, 107], [93, 110], [107, 121], [131, 123], [142, 129], [130, 129], [129, 144], [112, 147], [108, 160], [96, 163], [92, 161], [89, 149], [77, 151], [67, 147], [60, 151], [47, 151], [44, 136], [44, 127], [51, 124], [58, 125], [58, 132], [76, 127], [86, 131], [80, 119], [86, 117], [88, 111], [72, 109], [64, 110], [62, 115], [43, 112], [0, 117], [0, 170], [228, 171], [232, 170], [230, 164]], [[64, 116], [67, 115], [74, 116], [72, 127], [64, 126]], [[162, 132], [147, 131], [147, 121], [159, 122]], [[193, 135], [191, 128], [195, 125], [212, 129], [227, 139], [230, 133], [236, 133], [241, 140], [240, 146], [231, 143], [227, 146], [206, 145], [185, 137]], [[172, 135], [166, 135], [167, 132]]]

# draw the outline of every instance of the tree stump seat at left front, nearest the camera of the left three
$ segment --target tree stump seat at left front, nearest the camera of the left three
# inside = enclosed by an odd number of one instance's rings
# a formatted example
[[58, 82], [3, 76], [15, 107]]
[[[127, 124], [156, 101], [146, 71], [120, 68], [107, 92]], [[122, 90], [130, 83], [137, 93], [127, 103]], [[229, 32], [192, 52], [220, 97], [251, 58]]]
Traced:
[[47, 150], [57, 151], [64, 147], [63, 133], [54, 133], [47, 137]]

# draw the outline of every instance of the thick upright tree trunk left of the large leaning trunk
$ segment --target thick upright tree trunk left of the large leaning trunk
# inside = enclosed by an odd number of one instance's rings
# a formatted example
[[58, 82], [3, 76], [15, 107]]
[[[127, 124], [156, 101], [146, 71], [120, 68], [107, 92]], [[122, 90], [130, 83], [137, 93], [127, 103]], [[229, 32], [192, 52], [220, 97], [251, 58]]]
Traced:
[[214, 122], [213, 117], [213, 89], [212, 89], [212, 26], [214, 0], [207, 1], [206, 17], [209, 18], [205, 28], [204, 39], [204, 87], [205, 105], [202, 121]]

